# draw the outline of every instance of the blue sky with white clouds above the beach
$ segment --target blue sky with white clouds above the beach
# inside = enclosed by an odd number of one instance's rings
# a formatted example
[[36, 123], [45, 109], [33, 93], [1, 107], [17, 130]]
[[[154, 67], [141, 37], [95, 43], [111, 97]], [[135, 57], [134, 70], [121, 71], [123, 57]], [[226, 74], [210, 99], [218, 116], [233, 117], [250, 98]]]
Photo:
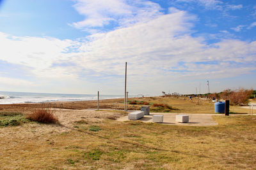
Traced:
[[0, 0], [0, 91], [256, 89], [256, 1]]

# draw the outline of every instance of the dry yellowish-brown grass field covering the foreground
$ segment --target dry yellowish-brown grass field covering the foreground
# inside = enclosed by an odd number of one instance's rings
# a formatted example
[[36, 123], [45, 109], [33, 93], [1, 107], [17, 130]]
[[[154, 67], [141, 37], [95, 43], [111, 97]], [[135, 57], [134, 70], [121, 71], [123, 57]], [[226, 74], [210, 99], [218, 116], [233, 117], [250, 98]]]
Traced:
[[[212, 103], [200, 103], [202, 108], [196, 108], [198, 105], [191, 101], [181, 104], [176, 99], [175, 104], [175, 99], [160, 100], [163, 101], [159, 103], [171, 104], [182, 112], [198, 109], [199, 113], [212, 113]], [[236, 113], [244, 111], [238, 107], [231, 109]], [[72, 112], [66, 112], [64, 117], [72, 120]], [[116, 115], [125, 115], [122, 111], [93, 114], [93, 121], [90, 113], [88, 117], [79, 115], [82, 120], [72, 124], [39, 124], [27, 121], [20, 113], [2, 112], [0, 120], [15, 119], [20, 124], [0, 126], [0, 169], [256, 167], [255, 116], [214, 116], [216, 126], [188, 127], [113, 120]]]

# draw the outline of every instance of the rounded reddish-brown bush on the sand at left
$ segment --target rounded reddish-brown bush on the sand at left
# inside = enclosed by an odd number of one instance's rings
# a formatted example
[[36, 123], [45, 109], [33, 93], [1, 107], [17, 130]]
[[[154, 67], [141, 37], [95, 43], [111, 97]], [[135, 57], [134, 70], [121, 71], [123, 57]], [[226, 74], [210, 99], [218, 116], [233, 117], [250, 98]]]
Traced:
[[50, 110], [35, 110], [32, 114], [28, 115], [27, 118], [45, 124], [55, 124], [58, 122], [58, 118], [56, 118]]

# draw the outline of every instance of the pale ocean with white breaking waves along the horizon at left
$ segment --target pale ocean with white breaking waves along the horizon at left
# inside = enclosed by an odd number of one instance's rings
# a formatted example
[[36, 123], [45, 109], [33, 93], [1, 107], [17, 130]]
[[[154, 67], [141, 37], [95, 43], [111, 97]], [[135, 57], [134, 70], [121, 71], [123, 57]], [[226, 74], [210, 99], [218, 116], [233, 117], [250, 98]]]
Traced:
[[[91, 101], [97, 100], [97, 94], [49, 94], [31, 92], [2, 92], [0, 104], [44, 103], [54, 101]], [[100, 99], [122, 98], [122, 95], [100, 95]]]

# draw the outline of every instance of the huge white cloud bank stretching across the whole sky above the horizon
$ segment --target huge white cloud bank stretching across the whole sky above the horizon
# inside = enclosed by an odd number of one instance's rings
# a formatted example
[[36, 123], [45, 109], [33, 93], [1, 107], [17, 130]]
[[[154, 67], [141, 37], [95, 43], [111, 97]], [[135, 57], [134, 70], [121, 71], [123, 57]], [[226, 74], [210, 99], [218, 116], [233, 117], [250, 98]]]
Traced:
[[174, 8], [170, 12], [81, 42], [1, 33], [0, 60], [31, 67], [31, 74], [42, 85], [47, 82], [49, 89], [67, 89], [71, 83], [73, 89], [112, 88], [109, 93], [119, 94], [125, 61], [129, 92], [135, 94], [156, 94], [174, 81], [227, 78], [256, 70], [256, 41], [222, 39], [207, 45], [203, 36], [191, 36], [195, 16]]

